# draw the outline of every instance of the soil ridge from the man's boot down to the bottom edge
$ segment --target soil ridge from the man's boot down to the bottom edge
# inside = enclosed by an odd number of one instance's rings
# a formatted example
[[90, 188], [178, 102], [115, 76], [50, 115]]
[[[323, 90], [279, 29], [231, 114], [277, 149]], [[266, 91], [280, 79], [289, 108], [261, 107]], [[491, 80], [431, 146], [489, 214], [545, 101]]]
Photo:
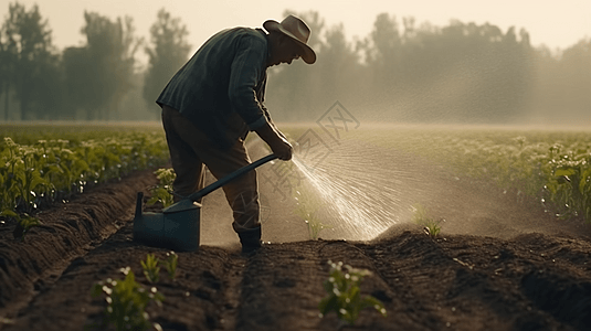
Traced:
[[319, 246], [272, 244], [249, 258], [236, 330], [316, 330], [325, 274]]

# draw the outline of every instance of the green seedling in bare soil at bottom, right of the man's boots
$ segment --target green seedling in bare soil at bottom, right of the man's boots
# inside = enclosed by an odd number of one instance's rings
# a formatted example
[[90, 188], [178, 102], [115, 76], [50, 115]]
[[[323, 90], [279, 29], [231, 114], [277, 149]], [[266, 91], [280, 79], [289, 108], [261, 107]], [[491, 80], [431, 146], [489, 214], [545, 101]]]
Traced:
[[[344, 266], [341, 261], [333, 263], [329, 260], [328, 264], [330, 265], [330, 276], [328, 280], [324, 281], [327, 296], [318, 305], [320, 318], [334, 311], [339, 320], [353, 325], [359, 312], [371, 307], [383, 317], [387, 316], [386, 308], [380, 300], [372, 296], [361, 297], [359, 285], [363, 277], [371, 275], [369, 270]], [[344, 271], [342, 267], [347, 270]]]

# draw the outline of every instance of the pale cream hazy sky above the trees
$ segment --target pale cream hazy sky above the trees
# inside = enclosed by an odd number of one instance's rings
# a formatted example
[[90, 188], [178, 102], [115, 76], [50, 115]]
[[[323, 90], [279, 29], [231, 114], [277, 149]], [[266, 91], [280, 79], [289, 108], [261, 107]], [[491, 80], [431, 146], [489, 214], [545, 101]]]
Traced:
[[[8, 3], [1, 1], [2, 21]], [[219, 30], [244, 25], [261, 26], [267, 19], [281, 21], [283, 11], [315, 10], [327, 25], [342, 23], [345, 33], [365, 38], [376, 17], [381, 12], [414, 17], [418, 23], [429, 21], [434, 25], [447, 25], [451, 19], [483, 24], [489, 22], [504, 32], [511, 25], [525, 28], [534, 45], [546, 44], [551, 49], [566, 49], [584, 36], [591, 36], [591, 0], [19, 0], [29, 9], [39, 4], [41, 14], [53, 30], [53, 43], [60, 49], [84, 42], [81, 28], [85, 10], [95, 11], [112, 19], [131, 15], [138, 35], [148, 38], [149, 26], [156, 21], [159, 9], [166, 8], [173, 17], [180, 17], [190, 31], [189, 41], [197, 49]], [[442, 6], [440, 3], [445, 3]], [[313, 32], [314, 33], [314, 32]]]

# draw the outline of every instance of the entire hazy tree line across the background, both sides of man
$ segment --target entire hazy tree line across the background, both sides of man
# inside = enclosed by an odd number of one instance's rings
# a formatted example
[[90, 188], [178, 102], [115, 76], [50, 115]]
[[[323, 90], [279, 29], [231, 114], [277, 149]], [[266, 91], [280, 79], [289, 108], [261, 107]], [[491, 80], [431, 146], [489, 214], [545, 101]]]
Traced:
[[[563, 51], [534, 47], [521, 29], [389, 13], [349, 41], [316, 11], [291, 12], [313, 31], [318, 61], [270, 70], [266, 104], [276, 120], [316, 120], [336, 100], [359, 119], [405, 122], [569, 122], [591, 110], [591, 39]], [[36, 6], [9, 4], [0, 30], [0, 119], [150, 120], [154, 100], [189, 58], [189, 33], [161, 9], [149, 40], [129, 17], [84, 12], [83, 46], [52, 45]], [[147, 66], [137, 61], [148, 55]]]

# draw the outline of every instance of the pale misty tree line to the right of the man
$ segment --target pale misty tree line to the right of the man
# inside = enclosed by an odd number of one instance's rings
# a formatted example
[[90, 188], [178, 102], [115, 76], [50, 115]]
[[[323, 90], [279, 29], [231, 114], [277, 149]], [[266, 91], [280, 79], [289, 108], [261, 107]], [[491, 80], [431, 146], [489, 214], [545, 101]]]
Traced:
[[316, 120], [336, 100], [359, 120], [425, 124], [589, 125], [591, 39], [550, 51], [525, 30], [453, 21], [446, 26], [381, 14], [365, 40], [298, 13], [320, 36], [315, 65], [271, 75], [279, 120]]

